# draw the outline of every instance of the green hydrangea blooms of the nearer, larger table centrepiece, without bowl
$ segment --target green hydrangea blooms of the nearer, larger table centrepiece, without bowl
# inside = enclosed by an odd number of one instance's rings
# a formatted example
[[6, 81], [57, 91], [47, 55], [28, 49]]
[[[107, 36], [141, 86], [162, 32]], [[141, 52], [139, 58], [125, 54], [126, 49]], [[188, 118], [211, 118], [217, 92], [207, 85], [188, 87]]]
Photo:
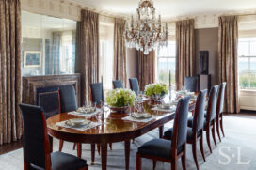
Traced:
[[136, 93], [130, 89], [113, 89], [106, 93], [105, 100], [112, 107], [133, 106], [136, 101]]

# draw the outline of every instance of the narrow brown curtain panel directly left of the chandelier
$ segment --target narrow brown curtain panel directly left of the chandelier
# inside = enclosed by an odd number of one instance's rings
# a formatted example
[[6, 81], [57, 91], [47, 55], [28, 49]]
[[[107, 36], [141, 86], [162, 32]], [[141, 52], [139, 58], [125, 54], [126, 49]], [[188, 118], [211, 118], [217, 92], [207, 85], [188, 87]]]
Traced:
[[121, 80], [126, 86], [126, 48], [124, 42], [125, 21], [115, 19], [114, 25], [114, 80]]

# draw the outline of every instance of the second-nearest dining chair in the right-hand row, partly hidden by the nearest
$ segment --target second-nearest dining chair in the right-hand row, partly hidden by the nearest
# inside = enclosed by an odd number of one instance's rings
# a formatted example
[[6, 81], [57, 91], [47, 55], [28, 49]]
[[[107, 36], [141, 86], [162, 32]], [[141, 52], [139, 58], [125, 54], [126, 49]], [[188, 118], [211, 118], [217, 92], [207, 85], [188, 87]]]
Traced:
[[[197, 142], [200, 141], [200, 152], [205, 162], [204, 152], [203, 152], [203, 122], [204, 122], [204, 107], [207, 95], [207, 89], [200, 91], [197, 101], [193, 119], [192, 128], [187, 128], [187, 138], [186, 143], [192, 145], [193, 158], [196, 163], [197, 169], [199, 170], [199, 163], [197, 159]], [[173, 128], [168, 129], [164, 133], [164, 139], [171, 140], [173, 135]]]

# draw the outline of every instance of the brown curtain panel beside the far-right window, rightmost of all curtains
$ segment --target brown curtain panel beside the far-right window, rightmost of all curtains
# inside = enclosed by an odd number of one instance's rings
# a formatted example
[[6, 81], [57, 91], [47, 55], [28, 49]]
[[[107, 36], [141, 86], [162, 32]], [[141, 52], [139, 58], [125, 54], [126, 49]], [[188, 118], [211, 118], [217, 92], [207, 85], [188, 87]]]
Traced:
[[218, 18], [219, 83], [227, 82], [224, 111], [228, 113], [240, 112], [237, 71], [237, 20], [237, 16], [221, 16]]

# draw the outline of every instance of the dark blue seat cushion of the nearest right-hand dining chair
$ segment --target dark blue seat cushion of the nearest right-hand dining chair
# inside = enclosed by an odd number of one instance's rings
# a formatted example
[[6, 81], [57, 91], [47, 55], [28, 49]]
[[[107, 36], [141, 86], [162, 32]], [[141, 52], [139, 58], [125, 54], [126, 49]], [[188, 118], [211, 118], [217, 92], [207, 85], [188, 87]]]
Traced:
[[152, 139], [141, 147], [138, 147], [138, 153], [158, 158], [170, 159], [171, 141], [165, 139]]

